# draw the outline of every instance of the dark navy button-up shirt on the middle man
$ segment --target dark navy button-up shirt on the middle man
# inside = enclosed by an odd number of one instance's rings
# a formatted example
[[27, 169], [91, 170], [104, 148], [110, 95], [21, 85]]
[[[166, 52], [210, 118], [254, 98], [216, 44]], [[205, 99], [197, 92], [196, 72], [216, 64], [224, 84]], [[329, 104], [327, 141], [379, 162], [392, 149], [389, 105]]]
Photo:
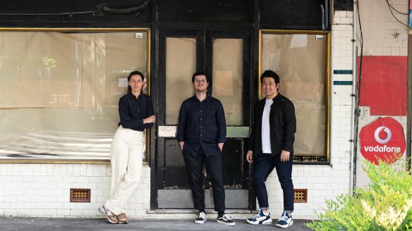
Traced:
[[219, 99], [207, 96], [200, 102], [193, 96], [183, 101], [176, 139], [185, 142], [183, 149], [192, 155], [198, 153], [200, 146], [206, 156], [219, 153], [217, 144], [226, 142], [226, 120]]

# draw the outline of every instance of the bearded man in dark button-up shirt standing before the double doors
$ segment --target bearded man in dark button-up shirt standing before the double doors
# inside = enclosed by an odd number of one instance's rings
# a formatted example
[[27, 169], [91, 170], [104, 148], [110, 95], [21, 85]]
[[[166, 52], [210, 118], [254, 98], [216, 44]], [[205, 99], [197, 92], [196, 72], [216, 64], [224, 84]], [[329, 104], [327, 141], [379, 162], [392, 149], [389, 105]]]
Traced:
[[192, 77], [195, 96], [183, 101], [178, 115], [177, 140], [183, 152], [192, 189], [193, 204], [199, 210], [195, 223], [205, 223], [205, 194], [202, 188], [203, 165], [210, 176], [213, 189], [214, 211], [217, 223], [235, 225], [224, 213], [224, 184], [222, 149], [226, 142], [226, 120], [222, 103], [207, 96], [209, 80], [205, 73]]

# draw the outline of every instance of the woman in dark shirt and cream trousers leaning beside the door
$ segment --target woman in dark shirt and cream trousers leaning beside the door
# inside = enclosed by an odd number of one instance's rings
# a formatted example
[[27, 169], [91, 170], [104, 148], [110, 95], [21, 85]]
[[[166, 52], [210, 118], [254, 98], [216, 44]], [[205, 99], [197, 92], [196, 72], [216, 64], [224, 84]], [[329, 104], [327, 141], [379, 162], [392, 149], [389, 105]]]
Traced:
[[153, 103], [142, 93], [145, 77], [128, 75], [128, 93], [119, 100], [119, 127], [110, 149], [110, 198], [99, 208], [110, 223], [128, 223], [126, 204], [140, 182], [143, 167], [143, 132], [153, 126]]

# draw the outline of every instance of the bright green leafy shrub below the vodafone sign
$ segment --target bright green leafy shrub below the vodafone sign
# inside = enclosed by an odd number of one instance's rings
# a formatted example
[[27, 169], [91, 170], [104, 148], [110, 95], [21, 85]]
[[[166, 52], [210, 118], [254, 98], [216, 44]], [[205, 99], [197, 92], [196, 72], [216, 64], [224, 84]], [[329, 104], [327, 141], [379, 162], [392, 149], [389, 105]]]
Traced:
[[412, 230], [412, 176], [406, 164], [364, 161], [363, 170], [371, 180], [368, 187], [326, 200], [324, 213], [316, 213], [319, 220], [305, 225], [322, 231]]

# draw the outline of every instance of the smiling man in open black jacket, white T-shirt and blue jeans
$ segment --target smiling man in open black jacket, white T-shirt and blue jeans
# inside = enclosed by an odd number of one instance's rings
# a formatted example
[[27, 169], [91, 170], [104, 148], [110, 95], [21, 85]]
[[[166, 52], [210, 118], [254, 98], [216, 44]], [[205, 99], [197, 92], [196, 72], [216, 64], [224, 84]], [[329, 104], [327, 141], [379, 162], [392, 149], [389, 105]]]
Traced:
[[260, 211], [246, 221], [250, 224], [270, 224], [269, 201], [265, 182], [276, 168], [277, 177], [283, 190], [284, 212], [277, 220], [277, 227], [293, 225], [293, 142], [296, 132], [295, 106], [278, 92], [280, 78], [272, 70], [260, 76], [265, 99], [257, 101], [253, 111], [253, 125], [249, 137], [246, 161], [253, 163], [253, 190]]

